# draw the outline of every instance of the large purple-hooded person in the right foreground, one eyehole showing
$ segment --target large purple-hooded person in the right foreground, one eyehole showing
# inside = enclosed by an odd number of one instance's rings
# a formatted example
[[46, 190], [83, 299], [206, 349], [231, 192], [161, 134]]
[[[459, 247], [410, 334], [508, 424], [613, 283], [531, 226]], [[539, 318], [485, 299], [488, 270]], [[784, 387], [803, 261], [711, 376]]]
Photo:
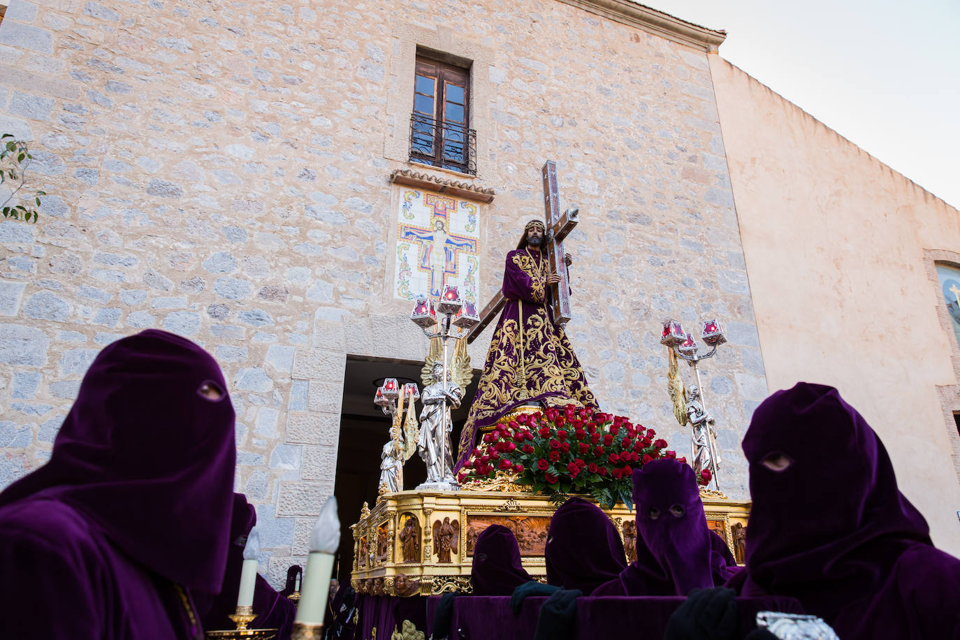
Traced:
[[844, 640], [960, 637], [960, 560], [931, 545], [883, 444], [838, 391], [777, 391], [743, 451], [753, 508], [746, 575], [732, 581], [743, 595], [792, 596]]

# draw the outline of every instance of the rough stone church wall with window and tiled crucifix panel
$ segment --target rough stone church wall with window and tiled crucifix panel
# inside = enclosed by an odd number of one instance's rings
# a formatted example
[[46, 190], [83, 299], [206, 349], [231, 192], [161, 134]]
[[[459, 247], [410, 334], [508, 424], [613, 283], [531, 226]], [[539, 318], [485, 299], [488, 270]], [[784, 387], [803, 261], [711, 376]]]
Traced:
[[[51, 195], [37, 225], [0, 223], [0, 486], [48, 458], [104, 344], [178, 332], [224, 367], [276, 582], [334, 487], [347, 355], [423, 356], [392, 296], [390, 173], [495, 190], [486, 301], [553, 159], [581, 208], [568, 333], [599, 401], [687, 454], [660, 325], [724, 321], [706, 395], [745, 497], [767, 385], [707, 48], [655, 31], [556, 0], [13, 0], [0, 129]], [[418, 46], [471, 62], [476, 178], [406, 161]]]

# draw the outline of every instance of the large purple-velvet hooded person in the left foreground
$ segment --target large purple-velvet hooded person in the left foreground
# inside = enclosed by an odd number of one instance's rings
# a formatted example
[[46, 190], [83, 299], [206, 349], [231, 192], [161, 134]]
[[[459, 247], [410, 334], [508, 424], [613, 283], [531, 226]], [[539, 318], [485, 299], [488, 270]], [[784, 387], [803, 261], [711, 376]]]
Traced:
[[223, 582], [233, 430], [201, 347], [148, 330], [104, 348], [50, 461], [0, 493], [4, 637], [203, 638], [190, 593]]

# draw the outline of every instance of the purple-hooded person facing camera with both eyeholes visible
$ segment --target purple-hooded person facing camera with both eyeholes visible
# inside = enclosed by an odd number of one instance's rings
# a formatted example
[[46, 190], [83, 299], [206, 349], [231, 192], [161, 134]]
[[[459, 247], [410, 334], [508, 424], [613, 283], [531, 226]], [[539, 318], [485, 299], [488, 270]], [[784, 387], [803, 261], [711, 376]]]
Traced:
[[686, 596], [713, 586], [710, 533], [693, 469], [676, 460], [634, 471], [636, 561], [596, 595]]

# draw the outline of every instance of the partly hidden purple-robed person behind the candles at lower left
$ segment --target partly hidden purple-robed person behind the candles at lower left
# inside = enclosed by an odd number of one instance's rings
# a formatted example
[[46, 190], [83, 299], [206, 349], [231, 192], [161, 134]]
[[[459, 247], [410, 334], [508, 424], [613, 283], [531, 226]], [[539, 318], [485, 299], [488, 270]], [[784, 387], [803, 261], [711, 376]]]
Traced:
[[[247, 502], [243, 493], [233, 494], [233, 515], [230, 521], [230, 549], [227, 554], [227, 569], [224, 572], [224, 586], [215, 596], [198, 595], [197, 609], [200, 611], [204, 629], [234, 628], [229, 615], [236, 610], [237, 596], [240, 593], [240, 574], [243, 571], [243, 551], [247, 535], [256, 524], [256, 510]], [[287, 598], [276, 592], [270, 582], [260, 574], [256, 575], [253, 588], [253, 613], [256, 618], [250, 628], [276, 628], [277, 640], [287, 640], [293, 630], [297, 607]]]

